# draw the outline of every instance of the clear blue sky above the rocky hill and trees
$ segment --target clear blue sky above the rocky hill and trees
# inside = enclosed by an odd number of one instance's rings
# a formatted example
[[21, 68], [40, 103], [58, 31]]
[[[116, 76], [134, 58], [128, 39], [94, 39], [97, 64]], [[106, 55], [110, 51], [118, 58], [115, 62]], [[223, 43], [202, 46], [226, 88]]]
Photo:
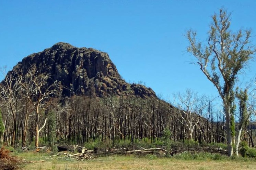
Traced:
[[[251, 28], [255, 39], [255, 0], [2, 0], [0, 67], [12, 69], [62, 41], [107, 52], [127, 82], [142, 81], [166, 100], [186, 89], [216, 96], [199, 67], [190, 64], [184, 35], [193, 28], [206, 40], [220, 8], [232, 12], [234, 31]], [[251, 65], [244, 79], [256, 74]]]

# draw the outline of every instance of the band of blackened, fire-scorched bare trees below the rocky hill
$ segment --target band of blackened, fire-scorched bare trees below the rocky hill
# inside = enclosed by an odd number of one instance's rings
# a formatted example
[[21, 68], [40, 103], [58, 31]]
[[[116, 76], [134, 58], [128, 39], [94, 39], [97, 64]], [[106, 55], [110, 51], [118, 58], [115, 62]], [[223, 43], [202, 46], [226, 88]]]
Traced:
[[[51, 99], [44, 105], [40, 109], [39, 128], [45, 125], [39, 132], [40, 144], [83, 144], [97, 139], [111, 141], [115, 146], [120, 140], [134, 142], [145, 138], [155, 142], [162, 140], [165, 128], [171, 131], [171, 140], [184, 141], [190, 140], [190, 127], [186, 124], [189, 120], [188, 124], [194, 126], [194, 140], [225, 142], [224, 117], [212, 113], [210, 105], [204, 117], [183, 114], [187, 120], [183, 120], [177, 108], [160, 99], [73, 96], [61, 102]], [[13, 146], [31, 144], [36, 135], [34, 106], [20, 99], [15, 107], [15, 121], [7, 107], [1, 107], [5, 127], [2, 142]]]

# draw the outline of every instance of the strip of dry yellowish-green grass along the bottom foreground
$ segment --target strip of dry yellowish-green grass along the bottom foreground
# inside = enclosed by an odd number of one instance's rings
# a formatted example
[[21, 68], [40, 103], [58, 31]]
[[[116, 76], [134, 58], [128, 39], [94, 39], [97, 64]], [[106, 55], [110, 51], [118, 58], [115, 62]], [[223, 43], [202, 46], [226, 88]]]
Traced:
[[26, 164], [23, 169], [37, 170], [251, 170], [255, 161], [177, 160], [173, 158], [138, 158], [134, 156], [109, 156], [97, 160], [70, 161], [49, 159], [46, 162]]

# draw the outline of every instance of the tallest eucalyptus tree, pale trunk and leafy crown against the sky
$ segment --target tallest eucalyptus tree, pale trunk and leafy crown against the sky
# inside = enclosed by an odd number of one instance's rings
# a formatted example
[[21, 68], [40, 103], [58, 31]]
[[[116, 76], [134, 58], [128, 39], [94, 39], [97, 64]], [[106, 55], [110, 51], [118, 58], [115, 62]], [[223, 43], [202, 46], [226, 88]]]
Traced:
[[189, 41], [187, 51], [195, 56], [194, 64], [217, 88], [222, 99], [225, 127], [228, 143], [228, 155], [233, 155], [232, 138], [234, 137], [234, 86], [238, 75], [248, 66], [255, 53], [251, 44], [251, 30], [240, 29], [232, 32], [230, 29], [231, 14], [220, 9], [212, 16], [212, 23], [205, 44], [196, 39], [197, 32], [188, 30], [186, 37]]

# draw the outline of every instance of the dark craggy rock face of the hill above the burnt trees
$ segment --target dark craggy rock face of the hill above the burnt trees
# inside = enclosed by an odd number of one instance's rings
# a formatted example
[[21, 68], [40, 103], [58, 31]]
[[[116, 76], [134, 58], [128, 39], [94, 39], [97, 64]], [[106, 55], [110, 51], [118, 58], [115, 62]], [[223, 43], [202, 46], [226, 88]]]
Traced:
[[151, 88], [129, 84], [121, 79], [108, 54], [92, 48], [76, 48], [59, 42], [51, 48], [23, 58], [16, 67], [24, 70], [24, 74], [31, 67], [36, 67], [40, 73], [49, 74], [52, 80], [57, 80], [65, 87], [62, 96], [104, 97], [113, 94], [143, 99], [156, 97]]

